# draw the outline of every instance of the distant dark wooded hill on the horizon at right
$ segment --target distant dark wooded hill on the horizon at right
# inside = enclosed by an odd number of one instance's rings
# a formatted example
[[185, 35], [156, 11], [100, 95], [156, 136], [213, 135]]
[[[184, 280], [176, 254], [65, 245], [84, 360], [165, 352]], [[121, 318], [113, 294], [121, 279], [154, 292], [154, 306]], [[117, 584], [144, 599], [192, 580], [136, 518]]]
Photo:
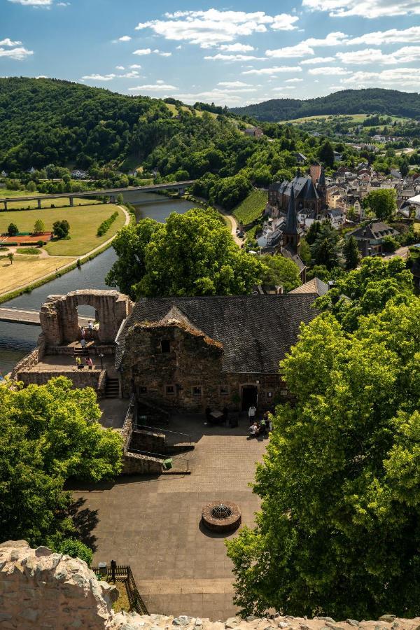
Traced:
[[398, 90], [342, 90], [317, 99], [272, 99], [230, 111], [267, 122], [323, 114], [379, 113], [420, 118], [420, 94]]

